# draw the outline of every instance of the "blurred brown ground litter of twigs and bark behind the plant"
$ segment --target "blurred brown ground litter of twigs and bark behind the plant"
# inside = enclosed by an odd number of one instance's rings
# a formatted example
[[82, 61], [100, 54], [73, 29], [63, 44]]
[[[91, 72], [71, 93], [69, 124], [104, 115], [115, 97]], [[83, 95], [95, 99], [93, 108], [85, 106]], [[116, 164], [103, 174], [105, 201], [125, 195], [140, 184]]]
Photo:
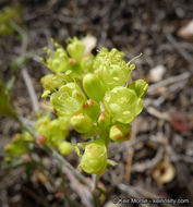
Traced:
[[[112, 204], [114, 197], [173, 198], [180, 199], [176, 206], [193, 206], [193, 1], [0, 0], [0, 73], [21, 117], [31, 119], [44, 108], [43, 48], [51, 47], [51, 37], [65, 46], [73, 36], [86, 37], [94, 53], [102, 46], [122, 50], [125, 60], [142, 52], [132, 80], [149, 84], [131, 142], [109, 147], [118, 166], [101, 176], [107, 192], [101, 206], [152, 206]], [[17, 132], [19, 124], [0, 117], [0, 166], [4, 145]], [[68, 159], [76, 165], [75, 155]], [[43, 162], [49, 179], [40, 169], [27, 178], [24, 166], [0, 171], [0, 207], [89, 206], [87, 191], [68, 171], [60, 172], [46, 155]]]

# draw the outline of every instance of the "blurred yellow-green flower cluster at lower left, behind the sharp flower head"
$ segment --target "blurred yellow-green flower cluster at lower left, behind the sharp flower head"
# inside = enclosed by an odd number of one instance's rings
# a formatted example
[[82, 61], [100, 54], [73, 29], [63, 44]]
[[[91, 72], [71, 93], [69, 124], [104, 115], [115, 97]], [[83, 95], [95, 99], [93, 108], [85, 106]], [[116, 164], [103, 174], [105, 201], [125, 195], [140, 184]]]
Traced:
[[[72, 144], [67, 142], [65, 138], [69, 134], [69, 119], [59, 117], [57, 119], [50, 118], [50, 115], [39, 115], [34, 131], [37, 134], [36, 145], [48, 145], [57, 148], [62, 155], [69, 155], [72, 151]], [[22, 156], [28, 153], [28, 144], [34, 148], [34, 138], [28, 132], [22, 132], [16, 134], [12, 142], [9, 143], [4, 150], [8, 156], [7, 160], [12, 160], [17, 156]]]

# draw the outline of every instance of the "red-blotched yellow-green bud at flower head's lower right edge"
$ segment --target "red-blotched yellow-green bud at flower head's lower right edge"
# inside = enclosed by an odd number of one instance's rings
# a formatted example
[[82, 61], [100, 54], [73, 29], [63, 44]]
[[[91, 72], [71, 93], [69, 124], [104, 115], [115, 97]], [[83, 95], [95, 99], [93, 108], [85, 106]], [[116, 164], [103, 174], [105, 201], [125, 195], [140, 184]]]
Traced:
[[128, 141], [130, 135], [128, 125], [116, 124], [110, 127], [109, 137], [114, 142]]

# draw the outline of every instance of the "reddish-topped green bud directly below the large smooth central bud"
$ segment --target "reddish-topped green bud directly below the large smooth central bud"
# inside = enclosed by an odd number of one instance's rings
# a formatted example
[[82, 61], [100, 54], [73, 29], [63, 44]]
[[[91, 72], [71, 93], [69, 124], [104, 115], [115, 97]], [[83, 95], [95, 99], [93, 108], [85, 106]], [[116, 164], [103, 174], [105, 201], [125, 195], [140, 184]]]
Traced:
[[83, 105], [83, 112], [96, 121], [100, 114], [100, 106], [95, 100], [86, 100]]

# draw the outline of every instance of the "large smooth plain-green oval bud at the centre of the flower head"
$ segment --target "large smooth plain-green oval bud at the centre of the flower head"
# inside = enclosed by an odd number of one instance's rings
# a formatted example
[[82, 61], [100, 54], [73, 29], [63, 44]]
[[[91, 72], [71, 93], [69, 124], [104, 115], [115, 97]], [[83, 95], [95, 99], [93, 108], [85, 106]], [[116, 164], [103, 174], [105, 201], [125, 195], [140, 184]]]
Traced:
[[83, 78], [83, 88], [87, 96], [99, 102], [106, 93], [105, 86], [96, 74], [86, 74]]

